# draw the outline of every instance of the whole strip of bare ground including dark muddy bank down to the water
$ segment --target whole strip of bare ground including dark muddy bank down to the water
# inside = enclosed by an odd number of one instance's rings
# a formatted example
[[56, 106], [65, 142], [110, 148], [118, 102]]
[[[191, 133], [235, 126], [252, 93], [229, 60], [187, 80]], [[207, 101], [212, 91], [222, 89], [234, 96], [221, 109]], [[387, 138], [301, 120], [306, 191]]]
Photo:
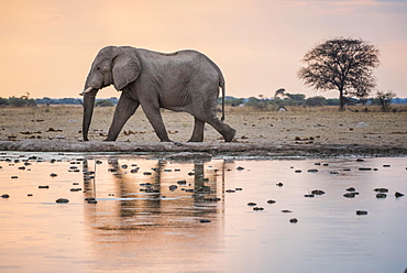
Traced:
[[[102, 142], [114, 108], [96, 108], [89, 142], [81, 140], [79, 106], [0, 108], [1, 151], [52, 152], [200, 152], [250, 156], [407, 155], [407, 112], [338, 112], [337, 108], [253, 111], [229, 108], [226, 122], [237, 129], [232, 143], [206, 125], [204, 143], [187, 143], [194, 118], [163, 111], [169, 138], [160, 143], [143, 111], [128, 121], [117, 142]], [[183, 155], [180, 155], [183, 156]]]

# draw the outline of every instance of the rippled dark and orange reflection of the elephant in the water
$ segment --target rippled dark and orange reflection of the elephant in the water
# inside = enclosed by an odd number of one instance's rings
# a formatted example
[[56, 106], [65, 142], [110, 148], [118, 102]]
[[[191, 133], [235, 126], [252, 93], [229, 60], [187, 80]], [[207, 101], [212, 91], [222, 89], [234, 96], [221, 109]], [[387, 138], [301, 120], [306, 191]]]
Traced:
[[[95, 159], [91, 161], [89, 159], [84, 160], [86, 197], [94, 197], [94, 195], [96, 195], [96, 197], [99, 198], [108, 198], [105, 199], [105, 205], [101, 208], [106, 211], [99, 211], [100, 215], [89, 211], [88, 215], [90, 221], [98, 222], [97, 226], [101, 225], [100, 228], [141, 228], [140, 225], [136, 227], [131, 226], [134, 221], [144, 222], [144, 225], [147, 226], [158, 225], [161, 227], [174, 227], [176, 223], [179, 227], [183, 222], [179, 218], [183, 217], [196, 217], [202, 214], [210, 214], [217, 217], [218, 206], [211, 206], [210, 209], [205, 210], [195, 209], [195, 207], [197, 207], [196, 204], [201, 205], [204, 196], [216, 199], [213, 197], [217, 197], [218, 193], [222, 193], [222, 190], [224, 190], [223, 163], [221, 163], [221, 166], [219, 167], [221, 172], [207, 172], [206, 177], [205, 163], [195, 162], [194, 172], [189, 173], [189, 175], [194, 175], [194, 182], [188, 182], [189, 179], [186, 178], [186, 185], [177, 185], [177, 181], [185, 178], [187, 174], [185, 172], [175, 172], [175, 170], [168, 168], [169, 164], [165, 161], [144, 161], [141, 163], [143, 165], [143, 170], [141, 170], [139, 174], [134, 174], [131, 172], [131, 166], [124, 164], [121, 165], [119, 163], [120, 160], [110, 157], [108, 161], [108, 174], [106, 173], [106, 166], [95, 164], [95, 166], [97, 166], [95, 174], [97, 179], [96, 183], [92, 183], [94, 181], [91, 177], [89, 179], [89, 162], [95, 162]], [[148, 171], [153, 170], [148, 172], [151, 175], [141, 174], [141, 172], [146, 171], [146, 166], [143, 163], [148, 164]], [[103, 167], [105, 170], [101, 170]], [[183, 168], [187, 166], [184, 164]], [[168, 172], [169, 170], [172, 172]], [[108, 185], [105, 183], [107, 181], [107, 175]], [[219, 175], [221, 175], [222, 178], [221, 185], [218, 182]], [[98, 183], [98, 178], [102, 178], [102, 184], [105, 185]], [[209, 187], [205, 185], [206, 183], [212, 184], [209, 184]], [[178, 188], [170, 192], [169, 185], [177, 185]], [[94, 188], [95, 186], [97, 190]], [[193, 188], [188, 189], [189, 186], [193, 186]], [[220, 186], [221, 189], [218, 189]], [[182, 190], [182, 188], [185, 190]], [[114, 196], [109, 197], [108, 195], [112, 195], [112, 192], [114, 193]], [[191, 195], [194, 198], [190, 197]], [[109, 198], [118, 201], [109, 200]], [[127, 198], [128, 200], [118, 198]], [[95, 209], [99, 210], [99, 205], [97, 205]], [[105, 217], [107, 215], [109, 217]], [[184, 223], [187, 223], [187, 221]]]

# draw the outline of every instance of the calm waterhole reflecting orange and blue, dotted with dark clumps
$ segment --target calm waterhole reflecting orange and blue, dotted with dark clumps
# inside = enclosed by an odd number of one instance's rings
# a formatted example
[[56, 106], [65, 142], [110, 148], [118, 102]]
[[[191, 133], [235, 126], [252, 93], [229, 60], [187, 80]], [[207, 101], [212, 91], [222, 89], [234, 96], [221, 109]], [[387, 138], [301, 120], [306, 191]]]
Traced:
[[[407, 196], [394, 196], [407, 194], [404, 157], [179, 163], [43, 153], [24, 165], [31, 155], [0, 157], [0, 195], [10, 195], [0, 198], [0, 272], [407, 267]], [[186, 184], [178, 184], [183, 179]], [[45, 185], [50, 188], [38, 188]], [[177, 188], [170, 190], [172, 185]], [[360, 194], [343, 197], [349, 187]], [[377, 187], [388, 189], [387, 198], [376, 198]], [[314, 189], [326, 194], [304, 196]], [[98, 203], [86, 203], [88, 197]], [[58, 198], [69, 203], [56, 204]], [[293, 218], [298, 222], [290, 222]]]

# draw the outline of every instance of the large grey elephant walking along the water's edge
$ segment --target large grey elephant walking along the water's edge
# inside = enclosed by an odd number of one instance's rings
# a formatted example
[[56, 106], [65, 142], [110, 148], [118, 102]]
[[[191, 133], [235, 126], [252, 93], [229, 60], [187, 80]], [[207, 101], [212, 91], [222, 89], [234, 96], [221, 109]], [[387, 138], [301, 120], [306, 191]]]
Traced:
[[195, 117], [190, 142], [204, 141], [205, 122], [211, 124], [224, 141], [235, 130], [217, 118], [219, 87], [222, 88], [224, 118], [224, 79], [219, 67], [195, 51], [163, 54], [130, 46], [107, 46], [96, 56], [86, 79], [84, 95], [84, 140], [88, 141], [95, 97], [99, 89], [113, 84], [121, 90], [113, 122], [106, 141], [114, 141], [124, 123], [141, 105], [162, 142], [169, 142], [160, 108], [186, 111]]

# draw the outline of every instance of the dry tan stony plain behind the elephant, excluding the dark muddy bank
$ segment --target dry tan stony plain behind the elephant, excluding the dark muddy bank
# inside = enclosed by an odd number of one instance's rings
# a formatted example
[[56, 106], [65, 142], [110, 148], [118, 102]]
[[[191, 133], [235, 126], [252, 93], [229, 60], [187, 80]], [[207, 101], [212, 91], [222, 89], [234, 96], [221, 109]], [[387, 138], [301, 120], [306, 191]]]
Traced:
[[[113, 111], [114, 107], [95, 108], [90, 140], [106, 138]], [[193, 117], [167, 110], [162, 114], [170, 139], [186, 142], [193, 131]], [[80, 106], [0, 108], [0, 141], [77, 142], [81, 139], [81, 118]], [[235, 142], [239, 143], [407, 145], [407, 112], [380, 112], [373, 107], [370, 112], [338, 112], [337, 107], [288, 108], [287, 112], [228, 108], [226, 122], [237, 129]], [[138, 109], [118, 142], [152, 143], [158, 142], [158, 138], [143, 111]], [[207, 124], [205, 142], [222, 143], [223, 140]]]

